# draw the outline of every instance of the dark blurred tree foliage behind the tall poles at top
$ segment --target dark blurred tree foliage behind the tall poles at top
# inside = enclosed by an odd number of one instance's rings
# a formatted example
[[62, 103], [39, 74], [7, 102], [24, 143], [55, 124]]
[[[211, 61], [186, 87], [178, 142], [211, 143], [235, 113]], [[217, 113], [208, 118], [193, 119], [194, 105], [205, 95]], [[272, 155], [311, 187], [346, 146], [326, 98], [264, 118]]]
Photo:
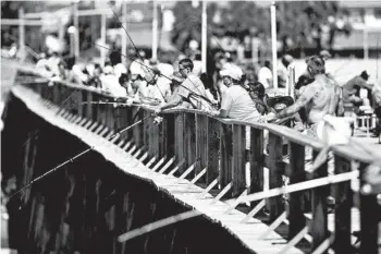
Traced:
[[[259, 7], [254, 1], [231, 1], [228, 5], [208, 3], [208, 36], [232, 36], [244, 40], [245, 36], [271, 36], [271, 16], [269, 7]], [[172, 43], [184, 51], [189, 40], [200, 41], [201, 4], [193, 8], [190, 1], [180, 1], [173, 9], [176, 19], [172, 32]], [[284, 47], [322, 48], [332, 46], [337, 33], [351, 33], [351, 25], [337, 28], [335, 21], [329, 23], [329, 16], [337, 17], [342, 13], [336, 2], [291, 1], [276, 2], [278, 39]], [[219, 16], [216, 22], [216, 15]], [[327, 34], [324, 37], [323, 33]], [[323, 41], [324, 40], [324, 41]]]

